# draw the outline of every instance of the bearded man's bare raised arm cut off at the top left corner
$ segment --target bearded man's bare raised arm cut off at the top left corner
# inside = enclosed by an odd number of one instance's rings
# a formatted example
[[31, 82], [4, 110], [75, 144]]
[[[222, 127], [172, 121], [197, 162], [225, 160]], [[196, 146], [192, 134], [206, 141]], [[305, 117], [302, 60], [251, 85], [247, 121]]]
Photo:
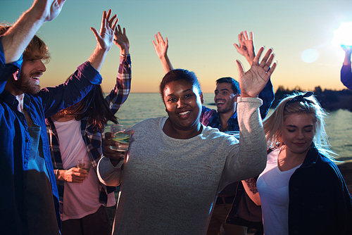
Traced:
[[34, 34], [46, 21], [54, 20], [65, 0], [35, 0], [32, 6], [0, 38], [5, 63], [18, 61]]

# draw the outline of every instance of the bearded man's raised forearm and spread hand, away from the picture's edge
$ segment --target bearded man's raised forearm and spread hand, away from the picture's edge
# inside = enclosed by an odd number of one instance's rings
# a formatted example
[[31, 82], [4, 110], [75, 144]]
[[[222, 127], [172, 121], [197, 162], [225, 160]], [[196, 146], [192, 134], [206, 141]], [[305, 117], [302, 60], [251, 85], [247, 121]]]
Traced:
[[113, 45], [114, 31], [118, 23], [117, 15], [113, 15], [111, 18], [110, 15], [111, 9], [108, 11], [108, 13], [103, 11], [100, 32], [98, 32], [94, 27], [90, 28], [94, 33], [97, 44], [92, 55], [89, 56], [88, 61], [98, 72], [101, 70], [103, 62], [106, 58], [106, 54]]

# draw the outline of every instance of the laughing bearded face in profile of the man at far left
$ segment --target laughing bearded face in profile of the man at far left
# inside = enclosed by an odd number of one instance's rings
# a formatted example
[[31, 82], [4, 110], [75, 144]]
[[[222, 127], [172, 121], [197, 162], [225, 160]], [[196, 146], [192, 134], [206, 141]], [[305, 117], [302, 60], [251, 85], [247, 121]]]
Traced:
[[38, 52], [23, 56], [23, 65], [18, 80], [10, 80], [17, 94], [37, 94], [40, 91], [39, 77], [46, 71], [42, 56]]

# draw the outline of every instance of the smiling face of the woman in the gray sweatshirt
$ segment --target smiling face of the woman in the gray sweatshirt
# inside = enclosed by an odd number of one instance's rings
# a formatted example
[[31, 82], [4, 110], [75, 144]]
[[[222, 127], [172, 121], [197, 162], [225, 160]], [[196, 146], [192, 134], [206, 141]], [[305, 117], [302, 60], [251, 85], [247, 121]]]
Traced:
[[169, 82], [163, 91], [163, 101], [173, 129], [199, 131], [203, 94], [185, 80]]

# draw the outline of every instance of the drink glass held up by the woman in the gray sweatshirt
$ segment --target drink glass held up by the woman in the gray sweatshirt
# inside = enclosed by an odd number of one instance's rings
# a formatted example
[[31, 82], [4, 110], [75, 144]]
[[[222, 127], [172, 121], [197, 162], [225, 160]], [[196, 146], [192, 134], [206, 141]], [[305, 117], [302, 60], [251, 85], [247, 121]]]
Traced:
[[117, 141], [118, 145], [110, 146], [115, 151], [127, 151], [130, 146], [132, 127], [125, 125], [111, 125], [111, 133], [114, 134], [113, 141]]

